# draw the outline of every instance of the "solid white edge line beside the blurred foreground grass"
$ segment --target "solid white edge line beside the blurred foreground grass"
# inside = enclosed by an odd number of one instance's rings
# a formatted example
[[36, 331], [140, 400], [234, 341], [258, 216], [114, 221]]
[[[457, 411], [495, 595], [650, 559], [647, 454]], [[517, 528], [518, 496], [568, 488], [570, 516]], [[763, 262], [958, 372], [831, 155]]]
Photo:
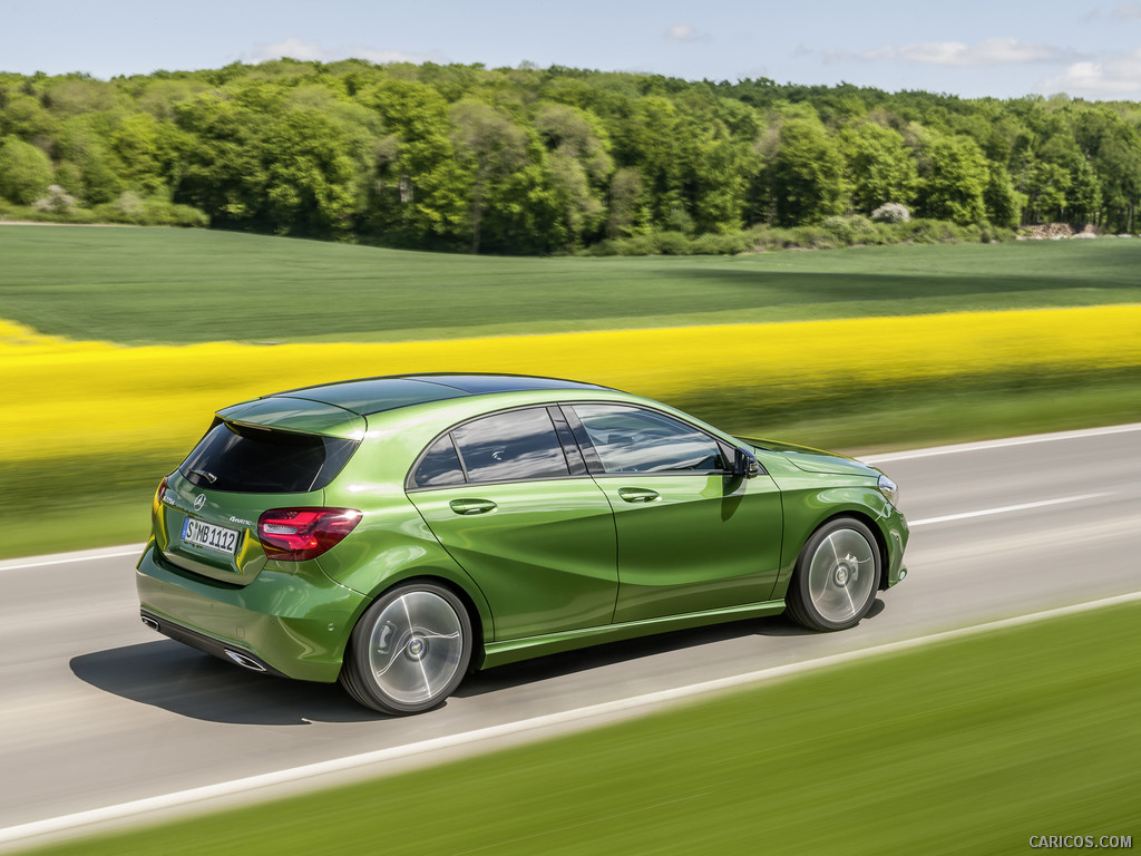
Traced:
[[[1055, 619], [1063, 615], [1075, 615], [1078, 613], [1091, 612], [1119, 604], [1134, 603], [1138, 600], [1141, 600], [1141, 591], [1133, 591], [1126, 595], [1102, 598], [1100, 600], [1090, 600], [1084, 604], [1075, 604], [1055, 609], [1018, 615], [1012, 619], [990, 621], [985, 624], [974, 624], [958, 630], [947, 630], [938, 633], [930, 633], [928, 636], [904, 639], [901, 641], [889, 643], [887, 645], [876, 645], [868, 648], [860, 648], [858, 651], [849, 651], [843, 654], [833, 654], [830, 656], [817, 657], [815, 660], [791, 663], [788, 665], [761, 669], [760, 671], [735, 675], [728, 678], [709, 680], [686, 687], [677, 687], [674, 689], [664, 689], [656, 693], [636, 695], [630, 698], [618, 698], [613, 702], [604, 702], [602, 704], [591, 704], [575, 710], [549, 713], [547, 716], [534, 717], [532, 719], [523, 719], [517, 722], [504, 722], [503, 725], [420, 741], [418, 743], [411, 743], [403, 746], [393, 746], [390, 749], [381, 749], [374, 752], [364, 752], [362, 754], [335, 758], [329, 761], [321, 761], [318, 764], [307, 764], [301, 767], [291, 767], [289, 769], [277, 770], [274, 773], [265, 773], [258, 776], [236, 778], [230, 780], [229, 782], [219, 782], [204, 788], [192, 788], [185, 791], [162, 794], [160, 797], [148, 797], [146, 799], [132, 800], [116, 806], [106, 806], [104, 808], [96, 808], [88, 811], [62, 815], [59, 817], [49, 817], [43, 821], [34, 821], [32, 823], [24, 823], [17, 826], [8, 826], [7, 829], [0, 830], [0, 845], [39, 835], [49, 835], [52, 833], [76, 830], [99, 823], [121, 821], [149, 811], [180, 808], [221, 797], [248, 796], [254, 790], [298, 782], [313, 776], [370, 767], [424, 752], [435, 752], [444, 749], [470, 745], [482, 741], [493, 740], [495, 737], [539, 730], [568, 722], [578, 722], [630, 710], [658, 708], [664, 704], [671, 704], [696, 696], [710, 695], [712, 693], [719, 693], [748, 684], [776, 680], [792, 675], [815, 671], [817, 669], [824, 669], [832, 665], [841, 665], [859, 660], [868, 660], [884, 654], [911, 651], [913, 648], [923, 647], [933, 643], [979, 636], [994, 630], [1031, 624], [1038, 621], [1046, 621], [1049, 619]], [[378, 773], [378, 775], [383, 774]]]

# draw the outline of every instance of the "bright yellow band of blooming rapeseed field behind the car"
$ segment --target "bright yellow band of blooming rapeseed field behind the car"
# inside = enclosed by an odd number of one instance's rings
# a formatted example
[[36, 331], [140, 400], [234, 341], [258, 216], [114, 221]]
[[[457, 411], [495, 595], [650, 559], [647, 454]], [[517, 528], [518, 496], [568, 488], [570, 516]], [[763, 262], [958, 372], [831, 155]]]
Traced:
[[1134, 305], [365, 345], [122, 347], [0, 321], [0, 461], [185, 451], [227, 404], [399, 372], [550, 374], [663, 399], [733, 388], [790, 402], [956, 375], [1133, 366], [1141, 379]]

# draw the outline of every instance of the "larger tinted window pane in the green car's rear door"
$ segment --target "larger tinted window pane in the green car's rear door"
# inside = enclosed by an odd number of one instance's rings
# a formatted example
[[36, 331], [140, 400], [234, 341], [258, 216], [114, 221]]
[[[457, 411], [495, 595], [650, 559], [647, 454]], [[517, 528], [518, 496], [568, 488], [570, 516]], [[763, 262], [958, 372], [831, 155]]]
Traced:
[[469, 482], [521, 482], [569, 476], [545, 407], [484, 417], [452, 431]]

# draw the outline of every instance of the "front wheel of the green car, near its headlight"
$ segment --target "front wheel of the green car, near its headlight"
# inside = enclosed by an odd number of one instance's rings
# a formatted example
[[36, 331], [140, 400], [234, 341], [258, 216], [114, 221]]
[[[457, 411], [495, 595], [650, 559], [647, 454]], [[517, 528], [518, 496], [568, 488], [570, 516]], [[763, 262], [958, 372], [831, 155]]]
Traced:
[[880, 583], [880, 550], [872, 531], [841, 517], [812, 533], [796, 559], [785, 603], [810, 630], [844, 630], [859, 623]]

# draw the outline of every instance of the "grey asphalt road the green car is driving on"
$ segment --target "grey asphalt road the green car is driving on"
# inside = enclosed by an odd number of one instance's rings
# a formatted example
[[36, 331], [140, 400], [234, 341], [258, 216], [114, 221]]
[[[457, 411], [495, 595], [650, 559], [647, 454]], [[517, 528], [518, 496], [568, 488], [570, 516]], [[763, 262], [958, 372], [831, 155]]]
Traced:
[[913, 539], [858, 628], [777, 617], [551, 656], [406, 719], [147, 630], [132, 557], [0, 563], [0, 832], [1141, 589], [1141, 425], [866, 460], [900, 484]]

